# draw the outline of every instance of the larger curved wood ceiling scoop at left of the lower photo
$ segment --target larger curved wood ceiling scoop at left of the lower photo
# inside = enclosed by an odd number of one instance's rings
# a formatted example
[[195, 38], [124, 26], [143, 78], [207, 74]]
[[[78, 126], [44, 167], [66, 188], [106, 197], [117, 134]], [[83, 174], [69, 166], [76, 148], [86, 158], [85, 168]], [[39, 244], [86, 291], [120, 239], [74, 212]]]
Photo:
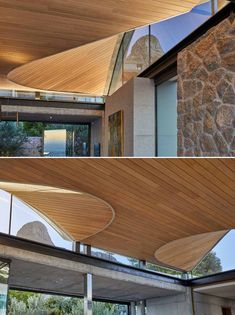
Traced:
[[99, 233], [114, 218], [111, 206], [83, 192], [12, 182], [0, 182], [0, 189], [41, 212], [77, 241]]

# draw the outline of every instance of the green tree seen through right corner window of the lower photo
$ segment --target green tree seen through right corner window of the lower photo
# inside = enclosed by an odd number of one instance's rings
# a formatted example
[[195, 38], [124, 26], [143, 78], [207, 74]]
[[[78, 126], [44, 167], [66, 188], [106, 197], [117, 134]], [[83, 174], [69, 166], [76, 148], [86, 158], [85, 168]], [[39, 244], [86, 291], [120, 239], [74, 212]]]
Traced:
[[194, 276], [204, 276], [211, 273], [222, 271], [221, 260], [216, 256], [215, 252], [210, 252], [200, 264], [193, 270]]

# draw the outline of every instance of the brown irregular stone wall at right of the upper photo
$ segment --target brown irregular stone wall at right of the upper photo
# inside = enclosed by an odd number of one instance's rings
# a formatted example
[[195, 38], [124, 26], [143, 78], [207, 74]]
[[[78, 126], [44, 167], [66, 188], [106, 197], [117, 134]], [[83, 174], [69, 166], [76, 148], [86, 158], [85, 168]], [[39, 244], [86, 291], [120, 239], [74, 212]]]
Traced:
[[178, 55], [178, 156], [235, 156], [235, 21]]

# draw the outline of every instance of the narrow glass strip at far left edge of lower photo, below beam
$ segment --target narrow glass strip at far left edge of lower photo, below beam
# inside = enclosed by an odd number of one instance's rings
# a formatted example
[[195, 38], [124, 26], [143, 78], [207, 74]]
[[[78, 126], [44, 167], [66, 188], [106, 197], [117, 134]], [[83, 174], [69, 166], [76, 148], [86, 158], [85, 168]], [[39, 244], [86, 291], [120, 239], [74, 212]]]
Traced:
[[9, 265], [0, 261], [0, 315], [7, 314]]

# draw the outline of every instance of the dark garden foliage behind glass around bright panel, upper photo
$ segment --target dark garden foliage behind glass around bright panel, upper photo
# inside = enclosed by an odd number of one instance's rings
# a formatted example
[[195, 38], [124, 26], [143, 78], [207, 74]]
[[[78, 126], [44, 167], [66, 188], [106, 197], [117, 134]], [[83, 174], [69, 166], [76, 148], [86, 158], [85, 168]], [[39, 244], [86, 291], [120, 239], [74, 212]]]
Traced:
[[[0, 156], [36, 156], [43, 155], [43, 137], [45, 130], [65, 129], [67, 132], [66, 156], [87, 156], [89, 147], [89, 125], [52, 124], [42, 122], [0, 122]], [[38, 138], [36, 142], [35, 137]], [[34, 140], [33, 140], [34, 139]], [[31, 141], [37, 146], [32, 147]], [[86, 143], [85, 152], [83, 144]]]

